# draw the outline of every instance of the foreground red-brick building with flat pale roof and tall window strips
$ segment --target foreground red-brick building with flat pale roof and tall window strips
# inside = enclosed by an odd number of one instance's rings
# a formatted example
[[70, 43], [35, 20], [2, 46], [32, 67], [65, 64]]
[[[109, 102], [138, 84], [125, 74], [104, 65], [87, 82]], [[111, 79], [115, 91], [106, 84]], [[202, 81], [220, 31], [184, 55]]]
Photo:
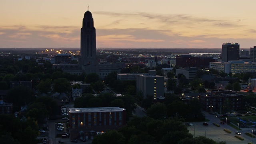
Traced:
[[70, 108], [70, 138], [92, 140], [97, 132], [126, 124], [126, 110], [119, 107]]

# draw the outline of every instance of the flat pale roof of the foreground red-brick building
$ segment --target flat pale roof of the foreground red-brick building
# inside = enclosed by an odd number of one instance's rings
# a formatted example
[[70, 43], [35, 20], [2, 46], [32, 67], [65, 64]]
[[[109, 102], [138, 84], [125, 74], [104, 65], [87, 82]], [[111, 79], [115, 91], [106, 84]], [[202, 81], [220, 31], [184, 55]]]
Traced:
[[119, 107], [102, 107], [102, 108], [70, 108], [70, 113], [81, 113], [81, 112], [122, 112], [124, 108]]

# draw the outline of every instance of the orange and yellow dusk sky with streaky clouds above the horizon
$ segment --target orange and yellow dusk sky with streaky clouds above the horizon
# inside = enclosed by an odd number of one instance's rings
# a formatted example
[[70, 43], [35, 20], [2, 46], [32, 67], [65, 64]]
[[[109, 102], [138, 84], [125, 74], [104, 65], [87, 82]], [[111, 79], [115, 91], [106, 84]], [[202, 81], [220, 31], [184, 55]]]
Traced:
[[0, 0], [0, 48], [80, 48], [87, 6], [96, 48], [256, 46], [256, 0]]

